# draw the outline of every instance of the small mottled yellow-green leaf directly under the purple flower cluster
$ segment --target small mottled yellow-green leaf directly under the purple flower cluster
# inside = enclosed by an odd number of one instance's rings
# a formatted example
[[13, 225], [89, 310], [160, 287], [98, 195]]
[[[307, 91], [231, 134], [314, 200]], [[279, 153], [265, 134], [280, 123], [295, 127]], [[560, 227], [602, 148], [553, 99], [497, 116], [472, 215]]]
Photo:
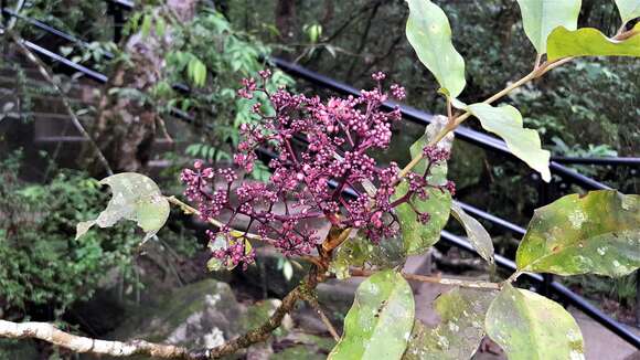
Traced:
[[398, 237], [384, 239], [373, 244], [369, 239], [358, 235], [348, 239], [334, 252], [329, 271], [339, 279], [350, 276], [349, 267], [363, 267], [365, 264], [381, 268], [392, 268], [406, 260], [403, 242]]

